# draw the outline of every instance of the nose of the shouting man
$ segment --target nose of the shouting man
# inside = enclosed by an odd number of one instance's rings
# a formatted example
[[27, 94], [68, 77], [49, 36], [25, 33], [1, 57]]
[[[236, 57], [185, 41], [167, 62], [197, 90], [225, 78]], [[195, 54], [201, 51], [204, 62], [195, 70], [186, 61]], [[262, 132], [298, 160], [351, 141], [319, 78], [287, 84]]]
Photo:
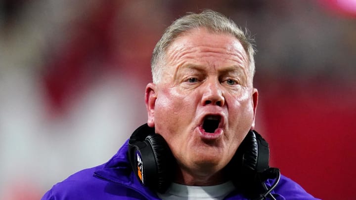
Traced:
[[223, 106], [225, 98], [219, 81], [206, 82], [203, 89], [202, 105]]

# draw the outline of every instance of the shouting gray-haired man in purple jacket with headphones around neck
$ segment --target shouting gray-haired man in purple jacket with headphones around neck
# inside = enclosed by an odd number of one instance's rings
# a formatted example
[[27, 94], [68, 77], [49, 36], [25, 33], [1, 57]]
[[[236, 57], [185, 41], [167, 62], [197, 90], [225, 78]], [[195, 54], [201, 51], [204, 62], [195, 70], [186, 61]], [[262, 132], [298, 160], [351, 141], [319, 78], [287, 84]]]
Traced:
[[158, 41], [151, 67], [147, 124], [107, 163], [43, 200], [314, 199], [268, 166], [267, 143], [252, 131], [254, 49], [233, 22], [211, 10], [183, 16]]

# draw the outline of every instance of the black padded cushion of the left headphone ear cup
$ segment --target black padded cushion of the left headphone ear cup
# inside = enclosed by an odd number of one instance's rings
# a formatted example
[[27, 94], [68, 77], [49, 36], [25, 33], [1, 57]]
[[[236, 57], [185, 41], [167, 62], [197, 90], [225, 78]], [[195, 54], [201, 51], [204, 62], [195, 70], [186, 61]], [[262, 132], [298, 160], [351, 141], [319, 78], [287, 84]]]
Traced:
[[145, 141], [152, 147], [152, 156], [156, 161], [156, 183], [153, 188], [159, 193], [164, 193], [172, 182], [172, 173], [175, 173], [174, 157], [166, 140], [160, 134], [150, 134]]

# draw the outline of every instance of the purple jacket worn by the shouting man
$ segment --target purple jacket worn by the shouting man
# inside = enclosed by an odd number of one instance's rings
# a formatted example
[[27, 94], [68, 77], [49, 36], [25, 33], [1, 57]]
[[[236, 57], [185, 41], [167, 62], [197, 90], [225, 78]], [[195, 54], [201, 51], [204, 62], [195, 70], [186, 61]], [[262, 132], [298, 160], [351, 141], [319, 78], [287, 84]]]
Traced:
[[[267, 180], [269, 187], [273, 180]], [[281, 176], [272, 191], [276, 200], [316, 200], [291, 179]], [[128, 159], [128, 141], [108, 162], [84, 169], [55, 184], [42, 200], [160, 200], [136, 179]], [[247, 200], [237, 191], [225, 200]]]

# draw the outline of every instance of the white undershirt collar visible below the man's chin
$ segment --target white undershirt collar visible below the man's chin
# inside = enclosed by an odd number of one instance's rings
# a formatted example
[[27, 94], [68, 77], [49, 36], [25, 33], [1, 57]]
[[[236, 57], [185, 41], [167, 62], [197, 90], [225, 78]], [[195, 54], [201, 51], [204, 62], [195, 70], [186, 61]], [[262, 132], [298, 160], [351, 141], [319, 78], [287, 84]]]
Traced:
[[215, 186], [186, 186], [172, 183], [166, 193], [157, 195], [162, 200], [223, 200], [234, 189], [231, 181]]

